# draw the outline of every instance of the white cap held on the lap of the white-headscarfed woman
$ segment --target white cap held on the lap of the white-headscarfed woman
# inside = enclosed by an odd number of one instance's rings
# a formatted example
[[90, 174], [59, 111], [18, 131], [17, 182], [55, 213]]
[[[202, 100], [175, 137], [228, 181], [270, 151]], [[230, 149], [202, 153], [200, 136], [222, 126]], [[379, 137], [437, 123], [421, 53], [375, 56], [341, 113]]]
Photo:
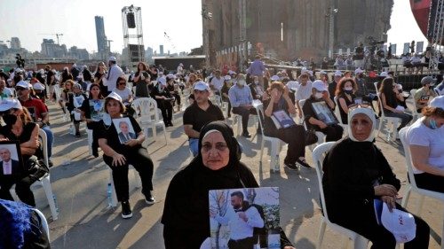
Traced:
[[381, 222], [398, 243], [406, 243], [416, 237], [416, 222], [412, 214], [395, 208], [390, 212], [387, 204], [384, 203]]

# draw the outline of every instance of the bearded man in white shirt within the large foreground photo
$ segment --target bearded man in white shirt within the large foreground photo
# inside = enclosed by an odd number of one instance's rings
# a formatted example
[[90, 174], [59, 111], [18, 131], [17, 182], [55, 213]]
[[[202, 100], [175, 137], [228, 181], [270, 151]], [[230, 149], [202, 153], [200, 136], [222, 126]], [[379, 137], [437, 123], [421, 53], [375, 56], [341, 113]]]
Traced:
[[234, 191], [231, 194], [231, 205], [233, 209], [229, 208], [223, 217], [211, 213], [210, 216], [220, 224], [229, 225], [228, 248], [252, 249], [258, 243], [254, 241], [253, 230], [263, 228], [264, 220], [255, 206], [250, 206], [248, 202], [243, 201], [242, 191]]

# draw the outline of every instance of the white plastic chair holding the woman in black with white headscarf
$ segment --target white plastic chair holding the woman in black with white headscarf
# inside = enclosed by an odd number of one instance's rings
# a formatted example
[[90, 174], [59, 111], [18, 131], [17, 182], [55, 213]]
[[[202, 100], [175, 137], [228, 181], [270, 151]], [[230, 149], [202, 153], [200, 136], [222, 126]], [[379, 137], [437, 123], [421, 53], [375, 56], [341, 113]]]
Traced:
[[[321, 226], [319, 228], [319, 234], [318, 234], [318, 242], [316, 244], [316, 248], [320, 249], [322, 245], [322, 240], [324, 238], [325, 234], [325, 228], [327, 225], [332, 230], [335, 230], [346, 237], [349, 238], [349, 240], [353, 241], [353, 248], [355, 249], [364, 249], [367, 248], [367, 245], [369, 244], [369, 240], [365, 237], [362, 237], [361, 235], [355, 233], [353, 230], [347, 230], [342, 226], [337, 225], [336, 223], [329, 221], [329, 215], [327, 213], [327, 206], [325, 206], [325, 197], [324, 197], [324, 191], [322, 188], [322, 161], [324, 159], [324, 153], [329, 152], [331, 147], [336, 144], [336, 142], [327, 142], [324, 144], [320, 144], [314, 148], [312, 156], [313, 156], [313, 162], [316, 167], [316, 175], [318, 176], [318, 183], [319, 183], [319, 192], [321, 194], [321, 207], [323, 210], [323, 215], [321, 216]], [[348, 242], [348, 241], [347, 241]]]

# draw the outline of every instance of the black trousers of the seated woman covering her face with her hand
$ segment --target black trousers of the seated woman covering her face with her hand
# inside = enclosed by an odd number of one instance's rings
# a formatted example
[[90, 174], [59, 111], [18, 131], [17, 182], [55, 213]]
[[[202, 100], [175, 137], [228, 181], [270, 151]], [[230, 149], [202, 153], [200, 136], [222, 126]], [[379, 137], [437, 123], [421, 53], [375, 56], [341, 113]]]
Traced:
[[305, 157], [305, 128], [301, 125], [289, 128], [280, 128], [270, 133], [265, 131], [266, 136], [278, 137], [289, 144], [285, 162], [295, 163], [299, 157]]

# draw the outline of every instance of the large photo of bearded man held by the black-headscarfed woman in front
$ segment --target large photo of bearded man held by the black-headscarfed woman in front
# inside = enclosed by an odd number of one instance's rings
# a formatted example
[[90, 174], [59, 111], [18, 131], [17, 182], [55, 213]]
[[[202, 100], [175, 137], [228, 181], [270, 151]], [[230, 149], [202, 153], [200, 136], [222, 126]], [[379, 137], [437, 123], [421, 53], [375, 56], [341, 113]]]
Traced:
[[209, 191], [212, 249], [281, 248], [279, 188]]

